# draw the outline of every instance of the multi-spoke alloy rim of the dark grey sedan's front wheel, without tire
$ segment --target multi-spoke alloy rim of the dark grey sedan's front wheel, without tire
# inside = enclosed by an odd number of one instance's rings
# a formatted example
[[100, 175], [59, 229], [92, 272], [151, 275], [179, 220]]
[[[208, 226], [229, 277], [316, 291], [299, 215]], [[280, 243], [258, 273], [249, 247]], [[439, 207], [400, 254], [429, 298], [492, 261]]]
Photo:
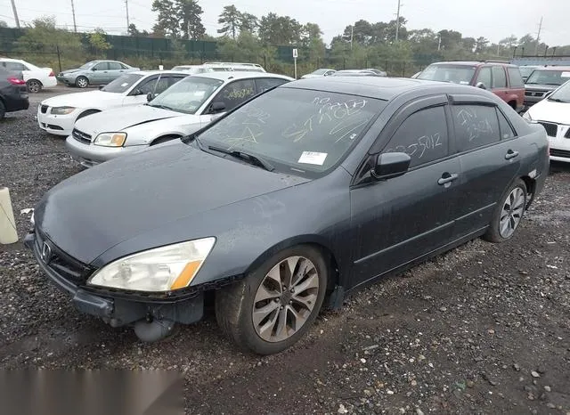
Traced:
[[252, 319], [256, 333], [280, 342], [303, 327], [319, 295], [319, 273], [304, 256], [289, 256], [273, 266], [256, 291]]

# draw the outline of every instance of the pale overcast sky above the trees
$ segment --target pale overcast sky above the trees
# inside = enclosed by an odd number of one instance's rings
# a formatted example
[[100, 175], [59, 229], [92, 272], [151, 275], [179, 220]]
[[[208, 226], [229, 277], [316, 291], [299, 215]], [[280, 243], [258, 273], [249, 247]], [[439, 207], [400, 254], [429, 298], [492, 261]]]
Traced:
[[[72, 0], [14, 0], [20, 25], [45, 15], [73, 28]], [[126, 31], [125, 0], [73, 0], [77, 30], [102, 27], [107, 33]], [[152, 0], [128, 0], [130, 22], [150, 30], [156, 20]], [[217, 36], [218, 15], [224, 5], [234, 4], [240, 12], [257, 17], [275, 12], [301, 23], [317, 23], [328, 44], [332, 37], [356, 20], [370, 22], [395, 19], [397, 0], [199, 0], [207, 33]], [[486, 37], [498, 42], [504, 37], [536, 36], [542, 16], [541, 40], [547, 45], [570, 45], [570, 0], [402, 0], [401, 15], [407, 28], [458, 30], [463, 37]], [[15, 26], [11, 0], [0, 0], [0, 20]]]

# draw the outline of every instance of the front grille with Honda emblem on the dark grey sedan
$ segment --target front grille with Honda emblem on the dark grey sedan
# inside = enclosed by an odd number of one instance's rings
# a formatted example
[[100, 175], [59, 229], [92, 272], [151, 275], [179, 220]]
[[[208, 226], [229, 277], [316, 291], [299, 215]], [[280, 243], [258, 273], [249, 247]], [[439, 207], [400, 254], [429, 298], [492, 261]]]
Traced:
[[[45, 244], [49, 246], [49, 256], [47, 257], [42, 256]], [[36, 231], [36, 246], [34, 248], [39, 254], [40, 261], [61, 278], [77, 285], [85, 284], [87, 281], [92, 270], [56, 247], [41, 232]]]

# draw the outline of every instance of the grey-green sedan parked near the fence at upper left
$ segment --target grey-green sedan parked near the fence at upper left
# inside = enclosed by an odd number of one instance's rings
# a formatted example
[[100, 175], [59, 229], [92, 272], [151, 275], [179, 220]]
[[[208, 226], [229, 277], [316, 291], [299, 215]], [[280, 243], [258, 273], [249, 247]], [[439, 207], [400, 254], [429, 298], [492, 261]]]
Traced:
[[107, 85], [125, 73], [139, 70], [119, 61], [90, 61], [77, 69], [60, 72], [57, 80], [68, 86], [86, 88], [89, 85]]

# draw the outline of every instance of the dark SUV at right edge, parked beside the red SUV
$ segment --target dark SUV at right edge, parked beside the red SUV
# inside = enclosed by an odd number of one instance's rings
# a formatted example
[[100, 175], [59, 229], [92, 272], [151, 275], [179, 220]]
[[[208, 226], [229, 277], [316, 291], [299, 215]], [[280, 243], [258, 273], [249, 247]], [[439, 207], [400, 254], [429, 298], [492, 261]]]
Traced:
[[546, 94], [570, 80], [570, 66], [543, 66], [526, 79], [525, 109], [542, 101]]

